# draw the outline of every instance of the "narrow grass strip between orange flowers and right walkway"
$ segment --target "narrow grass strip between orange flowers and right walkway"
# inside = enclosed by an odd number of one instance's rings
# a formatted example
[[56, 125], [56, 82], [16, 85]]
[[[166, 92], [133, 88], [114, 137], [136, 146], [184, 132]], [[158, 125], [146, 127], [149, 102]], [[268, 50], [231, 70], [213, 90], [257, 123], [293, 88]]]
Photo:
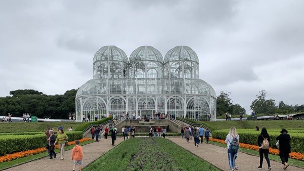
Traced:
[[[206, 141], [204, 140], [204, 142], [206, 142]], [[209, 141], [209, 144], [214, 144], [214, 145], [217, 145], [217, 146], [220, 146], [220, 147], [225, 147], [225, 148], [227, 148], [227, 145], [226, 145], [226, 144], [221, 144], [221, 143], [212, 142], [212, 141]], [[240, 151], [240, 152], [243, 152], [243, 153], [247, 153], [247, 154], [259, 156], [259, 152], [258, 152], [258, 151], [255, 151], [255, 150], [250, 150], [250, 149], [246, 149], [246, 148], [239, 148], [239, 151]], [[269, 159], [271, 159], [271, 160], [278, 161], [278, 162], [281, 163], [280, 156], [278, 156], [278, 155], [269, 154], [268, 157], [269, 157]], [[265, 162], [265, 161], [264, 161], [264, 162]], [[258, 164], [259, 164], [259, 163], [257, 163], [257, 166], [258, 166]], [[267, 163], [265, 163], [265, 164], [267, 164]], [[270, 161], [270, 164], [271, 164], [271, 161]], [[300, 160], [296, 160], [296, 159], [289, 158], [289, 159], [288, 159], [288, 164], [291, 164], [291, 165], [294, 165], [294, 166], [297, 166], [297, 167], [304, 168], [304, 161], [300, 161]]]

